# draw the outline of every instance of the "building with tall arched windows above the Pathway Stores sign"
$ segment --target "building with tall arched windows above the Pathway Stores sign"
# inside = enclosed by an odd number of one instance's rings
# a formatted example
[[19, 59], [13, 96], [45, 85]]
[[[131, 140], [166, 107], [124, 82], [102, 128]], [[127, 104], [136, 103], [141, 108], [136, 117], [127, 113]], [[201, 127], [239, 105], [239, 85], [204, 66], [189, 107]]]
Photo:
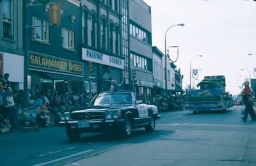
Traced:
[[[122, 81], [124, 57], [121, 44], [120, 1], [82, 0], [82, 59], [92, 62], [93, 72], [86, 72], [87, 91], [108, 91], [111, 80]], [[90, 79], [92, 78], [92, 79]]]

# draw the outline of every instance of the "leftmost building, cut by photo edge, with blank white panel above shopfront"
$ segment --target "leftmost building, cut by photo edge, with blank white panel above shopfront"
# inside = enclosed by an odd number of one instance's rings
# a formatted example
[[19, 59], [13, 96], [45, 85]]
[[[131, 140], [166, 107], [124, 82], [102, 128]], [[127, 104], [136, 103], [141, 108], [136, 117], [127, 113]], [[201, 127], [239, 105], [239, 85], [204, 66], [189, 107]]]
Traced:
[[0, 1], [0, 75], [9, 73], [15, 90], [23, 89], [24, 77], [22, 5], [22, 1]]

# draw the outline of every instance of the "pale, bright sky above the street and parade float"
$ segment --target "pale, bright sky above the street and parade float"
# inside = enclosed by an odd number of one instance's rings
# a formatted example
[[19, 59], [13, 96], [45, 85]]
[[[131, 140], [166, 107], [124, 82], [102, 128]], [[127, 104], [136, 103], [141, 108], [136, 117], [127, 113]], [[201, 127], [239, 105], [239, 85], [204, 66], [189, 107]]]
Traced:
[[[236, 95], [241, 93], [245, 79], [250, 75], [256, 78], [253, 73], [256, 68], [256, 1], [143, 1], [151, 6], [152, 45], [161, 52], [164, 53], [164, 34], [168, 27], [185, 24], [171, 27], [166, 34], [166, 47], [179, 46], [175, 65], [184, 75], [184, 88], [190, 82], [190, 62], [192, 69], [199, 70], [195, 87], [205, 75], [225, 75], [226, 91]], [[167, 49], [175, 60], [177, 48]]]

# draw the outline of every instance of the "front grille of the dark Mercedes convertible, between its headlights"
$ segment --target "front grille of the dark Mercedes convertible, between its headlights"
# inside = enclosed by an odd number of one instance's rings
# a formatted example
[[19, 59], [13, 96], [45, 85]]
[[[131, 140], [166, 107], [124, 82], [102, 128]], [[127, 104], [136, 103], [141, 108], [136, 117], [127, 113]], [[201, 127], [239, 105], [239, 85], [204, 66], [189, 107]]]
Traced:
[[72, 112], [70, 115], [71, 119], [74, 121], [79, 120], [104, 120], [104, 112]]

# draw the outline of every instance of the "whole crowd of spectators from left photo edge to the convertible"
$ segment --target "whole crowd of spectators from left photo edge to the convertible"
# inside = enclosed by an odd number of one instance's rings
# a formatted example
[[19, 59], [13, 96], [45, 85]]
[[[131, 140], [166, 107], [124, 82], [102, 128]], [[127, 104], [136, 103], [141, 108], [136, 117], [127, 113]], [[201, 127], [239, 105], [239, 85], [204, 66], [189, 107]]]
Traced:
[[0, 133], [17, 130], [21, 119], [25, 117], [22, 115], [29, 111], [35, 112], [39, 127], [54, 126], [63, 112], [86, 107], [92, 99], [86, 92], [59, 93], [51, 89], [40, 92], [37, 89], [29, 97], [29, 107], [25, 108], [23, 90], [13, 91], [8, 78], [8, 73], [0, 75]]

